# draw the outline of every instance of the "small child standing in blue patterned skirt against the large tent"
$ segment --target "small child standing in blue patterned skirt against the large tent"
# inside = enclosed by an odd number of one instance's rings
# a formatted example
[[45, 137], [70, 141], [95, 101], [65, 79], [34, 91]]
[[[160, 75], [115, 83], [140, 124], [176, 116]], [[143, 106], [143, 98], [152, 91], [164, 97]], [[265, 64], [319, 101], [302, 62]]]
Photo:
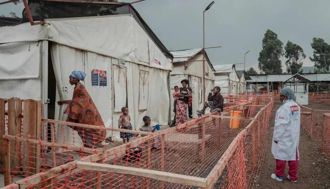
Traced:
[[[123, 114], [119, 116], [118, 128], [133, 130], [133, 127], [131, 125], [131, 117], [128, 115], [128, 108], [122, 107], [121, 112]], [[125, 139], [127, 139], [127, 142], [129, 142], [129, 139], [132, 138], [133, 136], [134, 136], [133, 133], [120, 132], [120, 138], [123, 139], [124, 143], [125, 143]]]

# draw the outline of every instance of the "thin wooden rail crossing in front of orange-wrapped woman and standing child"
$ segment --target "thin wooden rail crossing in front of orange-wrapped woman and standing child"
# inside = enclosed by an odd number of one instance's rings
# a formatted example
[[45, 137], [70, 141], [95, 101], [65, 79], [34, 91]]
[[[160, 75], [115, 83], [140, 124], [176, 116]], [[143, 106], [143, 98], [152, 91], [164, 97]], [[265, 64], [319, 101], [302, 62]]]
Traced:
[[101, 127], [101, 126], [95, 126], [95, 125], [86, 125], [86, 124], [80, 124], [80, 123], [72, 123], [72, 122], [66, 122], [66, 121], [60, 121], [60, 120], [53, 120], [53, 119], [41, 119], [43, 122], [48, 123], [56, 123], [61, 125], [70, 125], [70, 126], [76, 126], [76, 127], [84, 127], [84, 128], [90, 128], [90, 129], [100, 129], [100, 130], [107, 130], [107, 131], [120, 131], [120, 132], [128, 132], [128, 133], [135, 133], [135, 134], [142, 134], [142, 135], [151, 135], [151, 132], [144, 132], [144, 131], [135, 131], [135, 130], [127, 130], [127, 129], [118, 129], [118, 128], [108, 128], [108, 127]]

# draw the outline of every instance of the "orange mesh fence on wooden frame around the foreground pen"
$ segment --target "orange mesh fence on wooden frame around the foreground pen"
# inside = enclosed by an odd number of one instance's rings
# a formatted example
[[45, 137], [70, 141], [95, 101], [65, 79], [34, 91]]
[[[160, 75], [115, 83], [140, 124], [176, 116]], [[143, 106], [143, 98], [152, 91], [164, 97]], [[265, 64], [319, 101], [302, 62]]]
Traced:
[[[248, 99], [248, 96], [241, 96], [240, 99]], [[198, 185], [174, 180], [160, 181], [156, 177], [146, 178], [144, 175], [76, 169], [76, 163], [81, 160], [122, 168], [155, 170], [193, 176], [198, 180], [208, 179], [219, 160], [226, 163], [229, 160], [227, 172], [222, 173], [225, 182], [221, 182], [221, 187], [234, 187], [238, 182], [245, 182], [250, 187], [260, 173], [258, 171], [262, 165], [266, 129], [273, 102], [273, 96], [255, 96], [253, 102], [248, 104], [226, 107], [222, 117], [219, 112], [214, 112], [175, 128], [136, 137], [131, 142], [113, 148], [84, 147], [76, 138], [57, 140], [56, 133], [64, 131], [56, 130], [60, 127], [55, 127], [54, 124], [49, 127], [47, 120], [44, 120], [43, 138], [24, 132], [4, 137], [5, 151], [9, 154], [7, 158], [9, 156], [10, 161], [18, 162], [10, 167], [9, 173], [6, 171], [5, 183], [13, 182], [17, 175], [29, 177], [9, 185], [8, 188], [17, 185], [21, 188], [191, 188]], [[227, 117], [230, 115], [241, 118]], [[82, 131], [82, 135], [85, 132]], [[243, 145], [239, 145], [239, 141]], [[230, 147], [233, 143], [237, 144]], [[234, 155], [223, 159], [228, 150], [233, 151]], [[244, 173], [240, 173], [239, 170], [242, 169]], [[43, 173], [38, 174], [39, 172]], [[217, 178], [212, 179], [216, 181]]]

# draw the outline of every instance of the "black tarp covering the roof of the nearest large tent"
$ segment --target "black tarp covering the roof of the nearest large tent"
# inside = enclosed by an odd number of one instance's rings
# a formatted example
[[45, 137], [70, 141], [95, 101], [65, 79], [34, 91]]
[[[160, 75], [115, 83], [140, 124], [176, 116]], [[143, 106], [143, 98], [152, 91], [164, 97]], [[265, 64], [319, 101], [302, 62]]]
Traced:
[[[40, 21], [51, 18], [73, 18], [86, 16], [106, 16], [132, 14], [140, 26], [145, 30], [154, 43], [161, 49], [164, 55], [173, 59], [173, 55], [167, 50], [164, 44], [158, 39], [148, 24], [142, 19], [140, 14], [129, 3], [122, 4], [96, 4], [96, 3], [73, 3], [73, 2], [55, 2], [55, 1], [28, 1], [29, 9], [33, 21]], [[19, 23], [29, 22], [25, 9], [22, 13], [22, 19]], [[7, 24], [5, 24], [7, 23]], [[16, 25], [8, 24], [0, 20], [0, 26]]]

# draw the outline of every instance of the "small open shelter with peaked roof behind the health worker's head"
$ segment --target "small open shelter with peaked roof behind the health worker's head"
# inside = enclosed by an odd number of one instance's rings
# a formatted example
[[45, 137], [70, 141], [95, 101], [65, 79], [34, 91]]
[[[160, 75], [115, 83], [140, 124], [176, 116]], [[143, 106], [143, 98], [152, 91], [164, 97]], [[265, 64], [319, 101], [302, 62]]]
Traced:
[[310, 79], [305, 78], [300, 74], [295, 74], [292, 77], [282, 82], [282, 87], [290, 87], [294, 90], [296, 101], [301, 105], [308, 105], [308, 85]]

